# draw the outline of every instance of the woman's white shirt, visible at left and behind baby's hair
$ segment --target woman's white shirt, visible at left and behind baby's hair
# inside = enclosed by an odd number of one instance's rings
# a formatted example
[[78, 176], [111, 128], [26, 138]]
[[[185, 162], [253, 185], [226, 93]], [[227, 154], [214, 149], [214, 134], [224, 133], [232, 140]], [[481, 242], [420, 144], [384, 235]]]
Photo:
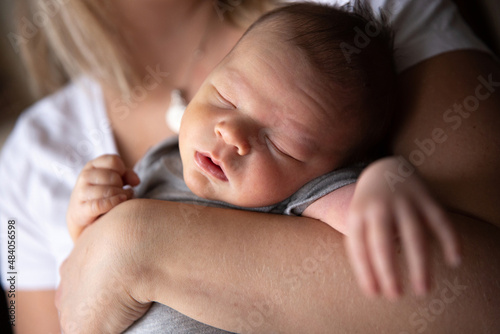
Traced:
[[[317, 2], [345, 3], [345, 0]], [[395, 29], [402, 71], [434, 55], [488, 49], [465, 26], [449, 0], [372, 0]], [[66, 210], [84, 164], [117, 153], [101, 89], [89, 79], [71, 83], [26, 110], [0, 156], [2, 284], [17, 272], [16, 289], [55, 289], [58, 268], [72, 248]], [[15, 267], [9, 268], [7, 228], [16, 221]]]

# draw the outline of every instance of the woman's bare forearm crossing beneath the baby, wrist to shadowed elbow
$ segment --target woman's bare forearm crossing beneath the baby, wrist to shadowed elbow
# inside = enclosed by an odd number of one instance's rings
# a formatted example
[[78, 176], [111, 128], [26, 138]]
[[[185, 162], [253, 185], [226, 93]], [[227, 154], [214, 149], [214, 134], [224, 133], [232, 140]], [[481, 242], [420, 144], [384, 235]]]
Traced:
[[[215, 327], [241, 333], [411, 331], [409, 319], [449, 294], [443, 292], [447, 284], [457, 286], [460, 303], [446, 304], [446, 312], [428, 323], [431, 332], [500, 325], [493, 316], [500, 306], [493, 279], [500, 274], [500, 234], [487, 225], [454, 217], [468, 235], [469, 257], [460, 271], [438, 259], [432, 270], [437, 286], [428, 298], [406, 295], [390, 303], [358, 290], [340, 234], [321, 222], [154, 200], [130, 201], [122, 209], [135, 220], [128, 228], [141, 230], [137, 245], [127, 247], [136, 247], [133, 253], [143, 254], [136, 260], [150, 268], [135, 299], [166, 304]], [[140, 216], [147, 219], [138, 222]], [[487, 256], [494, 265], [480, 260]], [[484, 289], [496, 297], [479, 293]]]

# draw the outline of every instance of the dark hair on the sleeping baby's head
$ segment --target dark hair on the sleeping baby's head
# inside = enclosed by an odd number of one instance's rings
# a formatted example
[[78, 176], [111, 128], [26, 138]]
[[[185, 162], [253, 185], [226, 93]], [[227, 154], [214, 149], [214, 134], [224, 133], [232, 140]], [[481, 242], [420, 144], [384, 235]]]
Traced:
[[[332, 7], [294, 3], [262, 16], [265, 24], [302, 51], [312, 75], [330, 95], [340, 124], [357, 128], [343, 148], [342, 165], [374, 158], [395, 110], [396, 71], [392, 31], [361, 1]], [[344, 123], [345, 122], [345, 123]], [[375, 153], [377, 152], [377, 153]]]

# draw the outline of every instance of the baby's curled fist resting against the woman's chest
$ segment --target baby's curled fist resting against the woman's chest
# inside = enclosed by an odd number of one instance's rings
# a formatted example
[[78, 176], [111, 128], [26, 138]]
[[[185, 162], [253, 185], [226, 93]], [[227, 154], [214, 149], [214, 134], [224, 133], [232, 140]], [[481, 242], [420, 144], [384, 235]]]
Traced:
[[139, 182], [137, 174], [126, 168], [117, 155], [102, 155], [89, 161], [78, 176], [66, 214], [73, 241], [100, 215], [132, 198], [133, 190], [123, 187]]

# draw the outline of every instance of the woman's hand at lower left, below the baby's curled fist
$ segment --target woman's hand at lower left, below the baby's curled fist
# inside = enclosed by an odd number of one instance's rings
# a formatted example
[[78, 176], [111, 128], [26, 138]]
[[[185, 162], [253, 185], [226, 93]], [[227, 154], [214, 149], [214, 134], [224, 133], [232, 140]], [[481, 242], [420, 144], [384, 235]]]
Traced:
[[[109, 217], [108, 217], [109, 216]], [[148, 310], [135, 298], [147, 275], [118, 206], [82, 233], [60, 268], [56, 306], [64, 333], [120, 333]], [[142, 291], [141, 291], [142, 292]]]

